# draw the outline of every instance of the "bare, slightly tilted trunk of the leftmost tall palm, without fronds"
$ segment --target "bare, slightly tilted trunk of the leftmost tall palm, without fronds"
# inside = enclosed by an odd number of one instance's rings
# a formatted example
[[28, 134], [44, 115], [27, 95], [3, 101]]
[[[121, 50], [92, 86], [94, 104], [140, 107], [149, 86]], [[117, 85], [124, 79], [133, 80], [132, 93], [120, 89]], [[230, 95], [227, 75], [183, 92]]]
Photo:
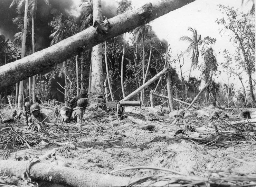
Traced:
[[[24, 28], [23, 28], [23, 36], [22, 36], [22, 44], [21, 44], [21, 58], [25, 57], [27, 26], [28, 26], [28, 0], [25, 1]], [[12, 76], [13, 75], [15, 74], [12, 74]], [[22, 110], [23, 80], [24, 79], [21, 79], [20, 86], [19, 86], [18, 110]]]

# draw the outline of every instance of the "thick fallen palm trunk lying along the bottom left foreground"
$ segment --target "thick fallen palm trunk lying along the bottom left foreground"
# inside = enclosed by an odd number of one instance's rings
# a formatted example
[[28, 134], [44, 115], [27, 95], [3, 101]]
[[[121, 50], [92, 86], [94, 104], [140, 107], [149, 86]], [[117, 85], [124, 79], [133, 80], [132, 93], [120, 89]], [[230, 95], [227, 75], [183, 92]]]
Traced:
[[[53, 166], [45, 163], [32, 164], [29, 161], [0, 160], [0, 174], [23, 178], [28, 174], [32, 180], [48, 181], [70, 187], [80, 186], [126, 186], [130, 178], [97, 174], [85, 170]], [[26, 177], [25, 177], [26, 178]]]

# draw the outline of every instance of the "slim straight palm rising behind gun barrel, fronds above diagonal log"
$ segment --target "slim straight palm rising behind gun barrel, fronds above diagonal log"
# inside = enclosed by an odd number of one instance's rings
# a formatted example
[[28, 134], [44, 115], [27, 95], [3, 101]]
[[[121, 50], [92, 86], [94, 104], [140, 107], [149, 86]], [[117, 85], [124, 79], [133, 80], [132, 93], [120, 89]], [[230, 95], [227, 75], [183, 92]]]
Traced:
[[[131, 9], [132, 2], [131, 0], [122, 0], [118, 2], [118, 7], [116, 10], [117, 14], [122, 14], [125, 11]], [[124, 53], [125, 53], [125, 33], [123, 35], [124, 38], [124, 45], [123, 45], [123, 55], [122, 55], [122, 62], [121, 62], [121, 87], [123, 92], [123, 98], [125, 98], [125, 92], [124, 92], [124, 81], [123, 81], [123, 71], [124, 71]]]

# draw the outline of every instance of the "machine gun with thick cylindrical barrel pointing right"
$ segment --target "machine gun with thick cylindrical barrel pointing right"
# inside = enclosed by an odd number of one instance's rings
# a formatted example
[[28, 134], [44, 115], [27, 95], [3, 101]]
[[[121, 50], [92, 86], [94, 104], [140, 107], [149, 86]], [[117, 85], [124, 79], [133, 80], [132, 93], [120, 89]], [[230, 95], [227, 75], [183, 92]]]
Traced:
[[104, 104], [105, 110], [113, 114], [122, 114], [124, 111], [123, 106], [141, 106], [141, 101], [106, 102]]

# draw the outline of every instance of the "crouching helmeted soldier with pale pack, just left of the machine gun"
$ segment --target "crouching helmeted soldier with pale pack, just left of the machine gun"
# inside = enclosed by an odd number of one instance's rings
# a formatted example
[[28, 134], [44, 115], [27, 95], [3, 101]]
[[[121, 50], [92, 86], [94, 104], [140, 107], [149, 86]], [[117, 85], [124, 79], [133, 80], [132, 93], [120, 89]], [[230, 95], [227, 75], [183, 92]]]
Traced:
[[65, 123], [69, 123], [70, 121], [76, 121], [77, 123], [82, 123], [83, 115], [86, 105], [88, 104], [85, 98], [80, 98], [77, 100], [77, 107], [62, 107], [60, 109], [60, 115], [62, 117], [62, 121]]

